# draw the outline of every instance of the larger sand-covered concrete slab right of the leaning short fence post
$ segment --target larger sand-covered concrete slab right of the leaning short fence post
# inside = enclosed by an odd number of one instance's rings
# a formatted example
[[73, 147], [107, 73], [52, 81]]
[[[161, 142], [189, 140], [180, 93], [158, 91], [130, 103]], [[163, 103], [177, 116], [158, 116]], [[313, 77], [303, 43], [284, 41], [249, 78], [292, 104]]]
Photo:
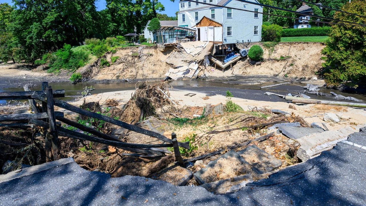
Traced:
[[250, 165], [234, 150], [230, 150], [215, 161], [209, 162], [206, 168], [194, 173], [194, 178], [199, 184], [206, 184], [244, 174], [257, 176], [262, 172]]

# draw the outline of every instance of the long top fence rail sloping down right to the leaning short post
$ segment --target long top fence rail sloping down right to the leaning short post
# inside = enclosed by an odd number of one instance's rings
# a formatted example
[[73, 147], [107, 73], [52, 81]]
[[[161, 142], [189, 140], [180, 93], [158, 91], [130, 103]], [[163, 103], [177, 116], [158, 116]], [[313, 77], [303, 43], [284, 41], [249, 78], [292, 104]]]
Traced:
[[[40, 95], [38, 93], [33, 93], [33, 95], [31, 95], [31, 96], [34, 99], [38, 99], [40, 101], [46, 101], [45, 96]], [[127, 124], [126, 122], [122, 122], [122, 121], [119, 121], [117, 119], [113, 119], [113, 118], [110, 118], [110, 117], [107, 117], [107, 116], [104, 116], [104, 115], [101, 115], [101, 114], [97, 114], [97, 113], [93, 113], [93, 112], [90, 112], [90, 111], [87, 111], [87, 110], [83, 110], [82, 108], [72, 106], [71, 104], [68, 104], [67, 102], [64, 102], [64, 101], [59, 100], [59, 99], [53, 99], [53, 101], [54, 101], [55, 106], [58, 106], [58, 107], [76, 112], [78, 114], [88, 116], [88, 117], [100, 119], [100, 120], [103, 120], [103, 121], [121, 126], [123, 128], [126, 128], [128, 130], [131, 130], [131, 131], [134, 131], [134, 132], [137, 132], [137, 133], [152, 136], [152, 137], [155, 137], [157, 139], [163, 140], [167, 143], [172, 143], [171, 139], [168, 139], [167, 137], [165, 137], [163, 135], [160, 135], [157, 132], [149, 131], [147, 129], [139, 128], [138, 126], [135, 126], [135, 125]], [[179, 145], [179, 147], [183, 147], [183, 148], [186, 148], [186, 149], [190, 148], [189, 144], [179, 142], [178, 145]]]

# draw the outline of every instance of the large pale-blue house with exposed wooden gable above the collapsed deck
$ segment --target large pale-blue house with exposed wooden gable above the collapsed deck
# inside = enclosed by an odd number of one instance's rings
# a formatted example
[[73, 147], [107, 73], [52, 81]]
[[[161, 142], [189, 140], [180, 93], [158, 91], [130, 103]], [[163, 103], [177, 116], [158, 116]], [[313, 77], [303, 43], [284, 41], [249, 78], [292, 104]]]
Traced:
[[[258, 3], [256, 0], [250, 1]], [[206, 38], [201, 37], [206, 36], [202, 33], [206, 34], [207, 32], [207, 40], [211, 41], [213, 36], [221, 36], [221, 43], [225, 45], [261, 41], [262, 14], [199, 4], [199, 2], [250, 11], [263, 11], [261, 6], [235, 0], [197, 0], [197, 3], [181, 0], [179, 1], [178, 26], [195, 27], [204, 16], [222, 26], [222, 34], [218, 34], [220, 29], [216, 28], [215, 30], [214, 26], [207, 27], [207, 30], [200, 29], [197, 31], [197, 35], [199, 33], [198, 40], [205, 41]], [[213, 32], [216, 33], [212, 34]], [[215, 44], [219, 43], [217, 40], [215, 39]]]

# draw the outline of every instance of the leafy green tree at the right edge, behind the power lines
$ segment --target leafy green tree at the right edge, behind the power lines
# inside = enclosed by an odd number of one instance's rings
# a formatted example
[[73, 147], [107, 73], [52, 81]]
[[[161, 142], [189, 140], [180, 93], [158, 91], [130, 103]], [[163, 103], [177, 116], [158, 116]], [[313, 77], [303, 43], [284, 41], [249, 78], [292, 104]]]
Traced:
[[[366, 1], [352, 0], [345, 4], [341, 10], [354, 14], [364, 15]], [[366, 18], [336, 12], [335, 19], [366, 24]], [[346, 84], [358, 87], [358, 83], [366, 78], [366, 27], [333, 25], [326, 47], [322, 54], [328, 59], [324, 63], [326, 68], [324, 77], [330, 86]]]

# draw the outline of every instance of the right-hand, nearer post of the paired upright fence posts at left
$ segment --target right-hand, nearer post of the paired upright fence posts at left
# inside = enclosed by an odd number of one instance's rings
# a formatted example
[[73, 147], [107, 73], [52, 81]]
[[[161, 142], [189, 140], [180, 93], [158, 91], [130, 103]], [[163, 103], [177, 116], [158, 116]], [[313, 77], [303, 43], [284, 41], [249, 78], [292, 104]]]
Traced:
[[53, 93], [52, 87], [47, 87], [46, 90], [47, 95], [47, 113], [48, 113], [48, 122], [50, 129], [50, 136], [52, 138], [52, 154], [53, 160], [59, 159], [59, 144], [58, 144], [58, 135], [56, 129], [56, 116], [55, 116], [55, 108], [53, 107]]

